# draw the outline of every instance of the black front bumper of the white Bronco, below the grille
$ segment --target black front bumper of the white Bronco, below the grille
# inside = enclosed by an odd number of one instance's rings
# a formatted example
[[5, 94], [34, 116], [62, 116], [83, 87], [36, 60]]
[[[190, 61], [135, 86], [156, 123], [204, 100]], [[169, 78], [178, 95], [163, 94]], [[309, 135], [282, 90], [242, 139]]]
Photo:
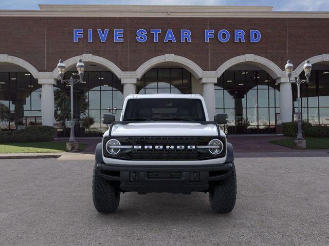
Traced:
[[122, 192], [170, 192], [190, 194], [207, 192], [211, 183], [230, 175], [232, 163], [215, 165], [112, 165], [97, 164], [97, 173], [104, 179], [120, 183]]

